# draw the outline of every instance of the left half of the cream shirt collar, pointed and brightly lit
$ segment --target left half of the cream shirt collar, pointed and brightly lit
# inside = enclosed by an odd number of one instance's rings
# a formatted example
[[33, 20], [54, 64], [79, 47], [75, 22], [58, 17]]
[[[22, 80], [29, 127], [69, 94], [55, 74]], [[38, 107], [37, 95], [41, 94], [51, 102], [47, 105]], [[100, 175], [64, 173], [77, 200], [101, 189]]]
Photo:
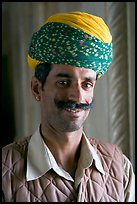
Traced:
[[32, 135], [28, 145], [26, 173], [27, 181], [35, 180], [41, 177], [50, 169], [54, 169], [58, 175], [73, 181], [69, 173], [57, 165], [52, 153], [44, 143], [38, 128]]

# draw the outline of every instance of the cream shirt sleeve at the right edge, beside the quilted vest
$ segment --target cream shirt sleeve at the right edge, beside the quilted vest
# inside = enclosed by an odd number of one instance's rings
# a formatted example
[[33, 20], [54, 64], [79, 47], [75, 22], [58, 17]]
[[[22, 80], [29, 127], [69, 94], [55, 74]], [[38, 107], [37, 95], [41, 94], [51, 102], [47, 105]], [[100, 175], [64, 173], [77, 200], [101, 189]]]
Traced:
[[130, 160], [124, 157], [124, 195], [125, 202], [135, 202], [135, 174]]

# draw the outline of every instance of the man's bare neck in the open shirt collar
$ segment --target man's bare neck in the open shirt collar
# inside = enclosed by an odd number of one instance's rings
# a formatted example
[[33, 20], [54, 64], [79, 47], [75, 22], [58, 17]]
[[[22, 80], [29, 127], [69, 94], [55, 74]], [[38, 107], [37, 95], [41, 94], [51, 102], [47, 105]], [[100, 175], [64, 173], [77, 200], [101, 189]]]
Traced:
[[44, 142], [52, 152], [57, 164], [64, 170], [74, 172], [80, 154], [83, 129], [74, 132], [55, 132], [41, 126]]

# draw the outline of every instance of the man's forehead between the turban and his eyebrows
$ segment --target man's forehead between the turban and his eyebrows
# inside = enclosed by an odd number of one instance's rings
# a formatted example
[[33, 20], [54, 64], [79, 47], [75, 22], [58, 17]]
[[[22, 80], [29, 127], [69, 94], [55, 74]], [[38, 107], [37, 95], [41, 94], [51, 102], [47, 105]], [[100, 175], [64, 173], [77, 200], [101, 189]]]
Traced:
[[74, 67], [70, 65], [53, 64], [50, 75], [56, 77], [60, 73], [68, 74], [77, 78], [90, 77], [96, 80], [96, 72], [91, 69]]

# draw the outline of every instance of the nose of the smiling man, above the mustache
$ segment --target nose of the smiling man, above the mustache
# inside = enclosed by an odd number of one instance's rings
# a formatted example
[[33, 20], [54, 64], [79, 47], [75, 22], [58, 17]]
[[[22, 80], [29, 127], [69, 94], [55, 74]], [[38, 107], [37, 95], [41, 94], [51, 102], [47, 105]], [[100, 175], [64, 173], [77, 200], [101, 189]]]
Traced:
[[77, 103], [84, 103], [84, 91], [80, 85], [75, 84], [69, 88], [68, 99]]

